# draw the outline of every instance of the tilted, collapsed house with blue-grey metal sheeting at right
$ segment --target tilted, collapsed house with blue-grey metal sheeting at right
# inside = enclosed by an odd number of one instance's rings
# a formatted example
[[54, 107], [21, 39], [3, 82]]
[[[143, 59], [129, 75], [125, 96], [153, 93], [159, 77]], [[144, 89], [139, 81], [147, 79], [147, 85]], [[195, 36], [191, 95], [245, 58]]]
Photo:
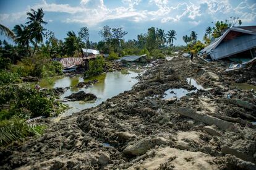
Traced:
[[255, 48], [256, 26], [231, 27], [198, 54], [212, 61], [228, 58], [247, 62], [256, 57]]

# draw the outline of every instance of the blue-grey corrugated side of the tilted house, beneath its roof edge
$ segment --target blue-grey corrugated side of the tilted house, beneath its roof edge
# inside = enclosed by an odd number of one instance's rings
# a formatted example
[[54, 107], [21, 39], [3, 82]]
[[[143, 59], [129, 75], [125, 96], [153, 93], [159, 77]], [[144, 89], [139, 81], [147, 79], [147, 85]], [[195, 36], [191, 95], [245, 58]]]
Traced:
[[[218, 60], [256, 47], [256, 35], [244, 35], [223, 42], [210, 53], [211, 59]], [[249, 56], [250, 57], [250, 56]]]

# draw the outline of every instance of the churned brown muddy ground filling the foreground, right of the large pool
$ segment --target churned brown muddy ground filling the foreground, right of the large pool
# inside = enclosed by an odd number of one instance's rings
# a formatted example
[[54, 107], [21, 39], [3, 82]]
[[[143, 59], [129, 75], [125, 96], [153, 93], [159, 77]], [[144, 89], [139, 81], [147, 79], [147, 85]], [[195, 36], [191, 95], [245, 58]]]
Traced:
[[[256, 169], [255, 92], [230, 87], [254, 75], [184, 57], [155, 65], [132, 90], [1, 149], [0, 169]], [[164, 100], [170, 88], [195, 91]]]

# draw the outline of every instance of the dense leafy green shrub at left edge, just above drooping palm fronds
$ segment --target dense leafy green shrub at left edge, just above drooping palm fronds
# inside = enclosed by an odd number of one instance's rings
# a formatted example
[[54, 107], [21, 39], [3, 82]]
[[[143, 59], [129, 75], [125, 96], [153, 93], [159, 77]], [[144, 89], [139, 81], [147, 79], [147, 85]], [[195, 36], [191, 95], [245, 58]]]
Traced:
[[53, 90], [37, 91], [34, 88], [4, 86], [0, 88], [0, 106], [9, 104], [9, 115], [7, 111], [0, 111], [2, 119], [19, 115], [24, 118], [38, 116], [49, 117], [59, 114], [65, 109], [64, 104], [54, 101]]

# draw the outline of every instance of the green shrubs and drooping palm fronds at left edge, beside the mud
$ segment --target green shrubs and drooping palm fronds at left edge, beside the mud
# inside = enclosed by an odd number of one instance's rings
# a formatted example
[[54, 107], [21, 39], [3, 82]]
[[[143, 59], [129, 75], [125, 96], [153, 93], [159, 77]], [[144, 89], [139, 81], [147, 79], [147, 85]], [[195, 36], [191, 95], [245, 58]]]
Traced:
[[56, 101], [53, 90], [37, 91], [27, 86], [0, 87], [0, 146], [30, 135], [40, 135], [45, 128], [31, 125], [27, 119], [56, 116], [66, 106]]

